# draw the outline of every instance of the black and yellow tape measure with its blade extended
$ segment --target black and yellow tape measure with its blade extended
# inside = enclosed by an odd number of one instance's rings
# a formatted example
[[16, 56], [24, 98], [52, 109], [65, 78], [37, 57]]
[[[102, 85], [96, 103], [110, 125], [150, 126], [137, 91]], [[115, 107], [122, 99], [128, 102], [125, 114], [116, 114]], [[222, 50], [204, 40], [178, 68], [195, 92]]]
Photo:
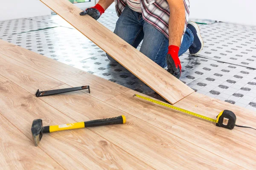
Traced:
[[[177, 111], [181, 111], [183, 113], [187, 113], [187, 114], [190, 114], [192, 116], [196, 116], [196, 117], [199, 117], [201, 119], [205, 119], [205, 120], [208, 120], [210, 122], [214, 122], [214, 123], [216, 123], [216, 126], [218, 126], [218, 127], [233, 129], [236, 126], [236, 115], [235, 115], [235, 113], [233, 113], [232, 111], [229, 111], [229, 110], [221, 111], [221, 113], [218, 114], [217, 119], [215, 120], [215, 119], [212, 119], [212, 118], [209, 118], [209, 117], [206, 117], [206, 116], [203, 116], [203, 115], [191, 112], [191, 111], [187, 111], [187, 110], [182, 109], [182, 108], [178, 108], [174, 105], [169, 105], [169, 104], [159, 102], [159, 101], [154, 100], [154, 99], [149, 99], [147, 97], [140, 96], [138, 94], [134, 94], [133, 96], [137, 96], [141, 99], [148, 100], [149, 102], [157, 103], [158, 105], [163, 105], [163, 106], [166, 106], [168, 108], [172, 108], [172, 109], [175, 109]], [[239, 126], [239, 127], [241, 127], [241, 126]]]

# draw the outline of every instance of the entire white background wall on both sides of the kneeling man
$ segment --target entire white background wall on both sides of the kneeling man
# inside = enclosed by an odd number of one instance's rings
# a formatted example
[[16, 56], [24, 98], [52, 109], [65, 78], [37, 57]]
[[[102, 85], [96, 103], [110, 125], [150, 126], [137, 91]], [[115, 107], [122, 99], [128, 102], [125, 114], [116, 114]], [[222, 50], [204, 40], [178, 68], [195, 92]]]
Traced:
[[[256, 26], [255, 6], [256, 0], [190, 0], [190, 18]], [[51, 10], [39, 0], [0, 0], [0, 20], [49, 14]]]

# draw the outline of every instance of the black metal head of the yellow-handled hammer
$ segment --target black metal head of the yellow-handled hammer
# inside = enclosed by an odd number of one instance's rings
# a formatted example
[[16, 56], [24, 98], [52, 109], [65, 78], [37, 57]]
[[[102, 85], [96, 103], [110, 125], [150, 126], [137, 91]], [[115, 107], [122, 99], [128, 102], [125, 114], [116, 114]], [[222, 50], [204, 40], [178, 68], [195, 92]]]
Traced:
[[32, 132], [32, 138], [35, 142], [35, 146], [38, 146], [40, 140], [42, 139], [42, 136], [43, 136], [42, 127], [43, 127], [42, 119], [35, 119], [33, 121], [31, 132]]

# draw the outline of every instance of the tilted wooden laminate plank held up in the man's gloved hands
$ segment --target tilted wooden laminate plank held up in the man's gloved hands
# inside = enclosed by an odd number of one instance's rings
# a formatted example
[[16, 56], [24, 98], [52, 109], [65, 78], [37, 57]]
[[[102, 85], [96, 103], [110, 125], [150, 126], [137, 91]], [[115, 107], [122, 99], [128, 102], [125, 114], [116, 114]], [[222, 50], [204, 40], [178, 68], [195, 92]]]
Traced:
[[41, 0], [41, 2], [64, 18], [170, 103], [173, 104], [193, 92], [191, 88], [108, 30], [101, 23], [89, 15], [80, 16], [81, 9], [68, 0]]

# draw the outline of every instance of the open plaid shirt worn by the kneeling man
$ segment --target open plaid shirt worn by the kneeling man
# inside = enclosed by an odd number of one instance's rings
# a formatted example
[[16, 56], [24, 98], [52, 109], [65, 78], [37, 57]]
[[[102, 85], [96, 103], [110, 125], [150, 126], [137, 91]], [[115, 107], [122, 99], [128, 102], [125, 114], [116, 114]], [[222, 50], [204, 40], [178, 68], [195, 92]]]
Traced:
[[[189, 21], [189, 0], [183, 0], [186, 13], [186, 21], [183, 35]], [[115, 8], [119, 17], [126, 6], [126, 0], [115, 0]], [[143, 19], [161, 31], [169, 39], [170, 9], [167, 0], [140, 0]], [[183, 40], [183, 35], [181, 41]]]

